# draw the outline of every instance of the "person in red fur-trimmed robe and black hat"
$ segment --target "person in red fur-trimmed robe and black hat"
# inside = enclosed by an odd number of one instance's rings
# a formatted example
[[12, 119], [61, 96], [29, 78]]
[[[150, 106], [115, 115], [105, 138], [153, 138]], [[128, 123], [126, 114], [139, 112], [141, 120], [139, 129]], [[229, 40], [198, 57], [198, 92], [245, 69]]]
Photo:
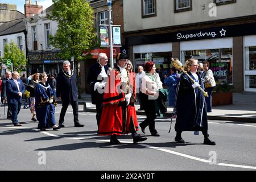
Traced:
[[121, 144], [117, 135], [128, 133], [131, 133], [134, 143], [144, 141], [147, 138], [142, 138], [137, 134], [133, 120], [136, 116], [127, 107], [131, 101], [133, 103], [133, 100], [130, 100], [133, 93], [130, 90], [129, 73], [126, 70], [127, 55], [118, 53], [115, 61], [117, 66], [110, 73], [104, 90], [98, 134], [110, 135], [110, 143], [113, 144]]

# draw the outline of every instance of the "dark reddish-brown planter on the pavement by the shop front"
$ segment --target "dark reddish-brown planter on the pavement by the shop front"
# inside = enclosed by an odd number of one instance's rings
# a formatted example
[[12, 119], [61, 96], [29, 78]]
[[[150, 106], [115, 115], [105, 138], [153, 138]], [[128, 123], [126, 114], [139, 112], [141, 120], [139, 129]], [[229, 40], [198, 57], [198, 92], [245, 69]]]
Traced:
[[233, 104], [232, 92], [213, 92], [212, 106]]

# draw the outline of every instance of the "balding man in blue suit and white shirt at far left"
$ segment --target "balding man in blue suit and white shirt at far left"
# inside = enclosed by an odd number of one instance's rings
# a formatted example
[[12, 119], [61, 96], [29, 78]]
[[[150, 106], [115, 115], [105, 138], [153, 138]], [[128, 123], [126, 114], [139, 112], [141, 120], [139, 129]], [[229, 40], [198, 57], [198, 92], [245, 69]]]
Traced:
[[18, 121], [18, 114], [22, 105], [22, 94], [25, 92], [25, 87], [22, 80], [19, 79], [19, 73], [11, 73], [11, 79], [6, 81], [6, 94], [11, 107], [11, 121], [14, 126], [21, 126]]

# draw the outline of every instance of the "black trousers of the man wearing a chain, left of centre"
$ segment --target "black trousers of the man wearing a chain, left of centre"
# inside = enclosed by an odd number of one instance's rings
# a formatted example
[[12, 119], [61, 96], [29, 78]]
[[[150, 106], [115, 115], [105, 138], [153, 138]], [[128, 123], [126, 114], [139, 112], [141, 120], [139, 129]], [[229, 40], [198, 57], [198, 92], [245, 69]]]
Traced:
[[[73, 109], [74, 122], [78, 123], [79, 122], [79, 119], [78, 119], [78, 111], [79, 111], [78, 101], [70, 101], [70, 103], [71, 103], [72, 109]], [[65, 117], [66, 111], [68, 109], [68, 105], [69, 105], [69, 102], [62, 102], [62, 108], [61, 108], [61, 111], [60, 111], [59, 123], [64, 122], [64, 117]]]

